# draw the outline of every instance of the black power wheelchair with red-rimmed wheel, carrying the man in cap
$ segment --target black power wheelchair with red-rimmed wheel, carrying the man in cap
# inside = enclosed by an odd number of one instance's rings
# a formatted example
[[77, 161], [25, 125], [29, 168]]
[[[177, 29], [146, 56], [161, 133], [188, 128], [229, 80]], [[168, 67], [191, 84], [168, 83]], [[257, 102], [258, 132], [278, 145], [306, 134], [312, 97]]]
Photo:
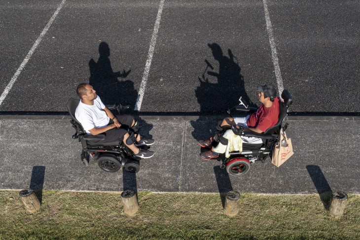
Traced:
[[[250, 170], [251, 164], [256, 161], [265, 162], [266, 159], [271, 159], [275, 145], [280, 141], [280, 131], [285, 132], [288, 127], [288, 123], [284, 125], [284, 119], [287, 116], [288, 107], [292, 103], [292, 97], [290, 92], [285, 89], [281, 94], [284, 102], [279, 102], [279, 121], [277, 124], [266, 130], [263, 134], [254, 132], [247, 132], [241, 129], [233, 129], [234, 133], [244, 137], [259, 137], [262, 143], [251, 144], [243, 142], [242, 152], [234, 151], [230, 152], [230, 157], [225, 158], [224, 154], [220, 154], [218, 161], [221, 161], [220, 168], [226, 168], [226, 171], [233, 176], [244, 175]], [[236, 110], [246, 111], [252, 113], [257, 110], [255, 107], [250, 107], [247, 103], [244, 103], [242, 99], [239, 99], [239, 105], [235, 106]], [[228, 110], [230, 114], [230, 110]]]

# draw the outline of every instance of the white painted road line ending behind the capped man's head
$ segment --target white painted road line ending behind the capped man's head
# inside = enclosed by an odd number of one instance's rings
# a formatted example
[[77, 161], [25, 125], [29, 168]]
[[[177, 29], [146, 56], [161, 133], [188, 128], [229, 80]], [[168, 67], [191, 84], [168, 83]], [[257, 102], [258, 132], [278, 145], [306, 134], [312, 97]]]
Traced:
[[273, 62], [274, 62], [276, 81], [278, 83], [278, 94], [279, 94], [279, 96], [281, 96], [281, 93], [284, 90], [284, 86], [283, 86], [283, 78], [282, 78], [281, 72], [280, 72], [278, 53], [276, 51], [275, 39], [274, 39], [274, 34], [273, 34], [273, 26], [271, 25], [271, 21], [270, 21], [269, 10], [267, 8], [267, 0], [263, 0], [263, 3], [264, 3], [264, 11], [265, 11], [266, 29], [267, 29], [267, 33], [269, 34], [271, 55], [273, 57]]

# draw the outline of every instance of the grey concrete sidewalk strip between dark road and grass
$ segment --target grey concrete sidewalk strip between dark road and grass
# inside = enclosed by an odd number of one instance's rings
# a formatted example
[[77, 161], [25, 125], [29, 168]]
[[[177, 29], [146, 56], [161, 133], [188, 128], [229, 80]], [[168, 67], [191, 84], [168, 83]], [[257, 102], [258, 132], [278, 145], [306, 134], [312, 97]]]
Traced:
[[229, 176], [216, 160], [199, 157], [197, 140], [214, 134], [220, 116], [141, 118], [141, 134], [156, 139], [151, 147], [155, 156], [142, 160], [141, 170], [131, 174], [108, 173], [95, 162], [85, 167], [69, 116], [1, 116], [0, 189], [28, 188], [40, 168], [44, 189], [360, 193], [357, 117], [288, 117], [294, 156], [280, 168], [256, 162], [242, 177]]

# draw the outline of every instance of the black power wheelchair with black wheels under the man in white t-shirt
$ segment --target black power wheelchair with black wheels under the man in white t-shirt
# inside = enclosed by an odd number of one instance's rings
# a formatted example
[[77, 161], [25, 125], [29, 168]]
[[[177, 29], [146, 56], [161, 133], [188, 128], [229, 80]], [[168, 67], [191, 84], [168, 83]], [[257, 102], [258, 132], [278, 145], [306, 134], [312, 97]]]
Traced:
[[[112, 142], [102, 143], [102, 140], [105, 139], [105, 135], [91, 135], [87, 134], [80, 122], [75, 118], [75, 110], [80, 100], [70, 98], [66, 106], [68, 112], [71, 116], [71, 124], [75, 129], [75, 134], [72, 135], [73, 139], [78, 139], [82, 145], [81, 161], [85, 166], [88, 166], [90, 160], [95, 160], [98, 162], [99, 167], [108, 172], [119, 171], [120, 168], [124, 167], [126, 171], [129, 172], [138, 172], [140, 170], [140, 160], [141, 158], [134, 156], [133, 151], [131, 151], [124, 143], [119, 142], [119, 140]], [[112, 104], [107, 105], [110, 110], [117, 110], [120, 114], [120, 110], [125, 110], [129, 106], [121, 106], [121, 104]], [[132, 128], [128, 128], [127, 131], [135, 141], [141, 126], [139, 123], [136, 123]], [[149, 146], [138, 146], [141, 149], [149, 149]]]

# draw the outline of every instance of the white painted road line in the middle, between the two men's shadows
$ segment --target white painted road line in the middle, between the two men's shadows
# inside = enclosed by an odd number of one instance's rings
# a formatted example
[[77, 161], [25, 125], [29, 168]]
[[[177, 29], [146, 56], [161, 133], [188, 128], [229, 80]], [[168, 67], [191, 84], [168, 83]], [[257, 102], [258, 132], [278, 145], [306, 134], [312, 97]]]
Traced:
[[147, 53], [147, 60], [146, 60], [146, 64], [145, 64], [143, 79], [142, 79], [142, 81], [141, 81], [141, 85], [140, 85], [140, 89], [139, 89], [139, 94], [138, 94], [138, 99], [136, 100], [136, 104], [135, 104], [135, 109], [134, 109], [135, 111], [140, 111], [140, 109], [141, 109], [141, 103], [143, 102], [144, 92], [145, 92], [145, 87], [146, 87], [146, 82], [147, 82], [147, 77], [149, 76], [149, 71], [150, 71], [152, 56], [154, 55], [154, 49], [155, 49], [155, 44], [156, 44], [157, 32], [159, 31], [159, 28], [160, 28], [161, 12], [162, 12], [162, 10], [163, 10], [164, 1], [165, 1], [165, 0], [161, 0], [161, 1], [160, 1], [160, 4], [159, 4], [159, 10], [158, 10], [157, 16], [156, 16], [154, 31], [152, 32], [152, 36], [151, 36], [150, 48], [149, 48], [149, 52]]

